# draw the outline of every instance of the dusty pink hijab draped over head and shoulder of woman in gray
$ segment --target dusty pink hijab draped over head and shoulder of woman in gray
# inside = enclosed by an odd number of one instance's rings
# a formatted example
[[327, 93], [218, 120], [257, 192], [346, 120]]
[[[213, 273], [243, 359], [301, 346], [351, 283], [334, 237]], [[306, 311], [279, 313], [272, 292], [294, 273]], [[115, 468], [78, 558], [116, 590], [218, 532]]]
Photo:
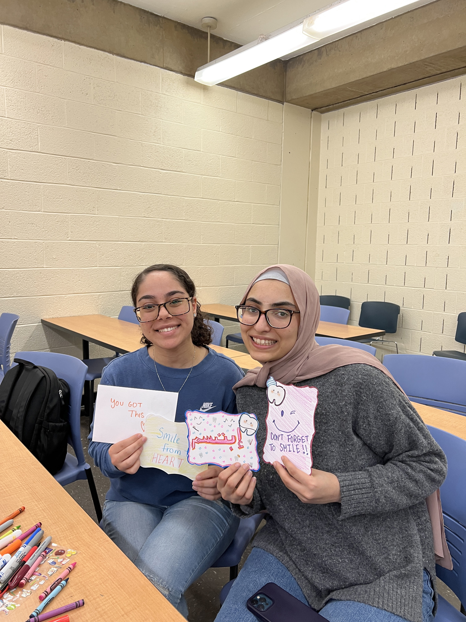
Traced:
[[[279, 268], [283, 271], [290, 283], [291, 291], [295, 296], [296, 304], [300, 312], [301, 323], [298, 329], [298, 338], [291, 350], [278, 359], [270, 363], [264, 363], [262, 367], [249, 369], [247, 374], [233, 387], [234, 390], [242, 386], [252, 386], [256, 384], [265, 387], [268, 376], [273, 376], [275, 380], [282, 384], [298, 383], [301, 380], [316, 378], [329, 373], [333, 369], [351, 365], [354, 363], [364, 363], [380, 369], [388, 378], [393, 380], [396, 386], [400, 385], [391, 376], [380, 361], [364, 350], [351, 348], [350, 346], [328, 345], [319, 346], [314, 337], [319, 326], [321, 315], [321, 304], [319, 292], [311, 277], [295, 266], [287, 264], [277, 264], [269, 266], [259, 272], [250, 282], [240, 304], [244, 304], [252, 285], [258, 277], [270, 269]], [[432, 536], [434, 539], [434, 552], [437, 564], [452, 570], [453, 564], [450, 551], [445, 539], [445, 530], [442, 517], [442, 505], [440, 492], [436, 490], [427, 499], [427, 509], [431, 518]]]

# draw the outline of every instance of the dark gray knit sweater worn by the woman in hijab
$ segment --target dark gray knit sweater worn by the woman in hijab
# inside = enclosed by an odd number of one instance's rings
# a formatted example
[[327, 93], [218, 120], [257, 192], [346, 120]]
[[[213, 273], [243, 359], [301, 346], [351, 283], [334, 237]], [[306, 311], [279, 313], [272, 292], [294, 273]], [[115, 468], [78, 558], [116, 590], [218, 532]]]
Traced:
[[313, 467], [336, 474], [341, 503], [302, 503], [262, 462], [267, 395], [245, 386], [237, 408], [257, 415], [261, 463], [252, 503], [232, 509], [241, 518], [267, 509], [254, 545], [290, 570], [316, 610], [355, 600], [421, 622], [423, 568], [435, 587], [425, 499], [445, 479], [445, 455], [379, 369], [347, 365], [305, 385], [319, 390]]

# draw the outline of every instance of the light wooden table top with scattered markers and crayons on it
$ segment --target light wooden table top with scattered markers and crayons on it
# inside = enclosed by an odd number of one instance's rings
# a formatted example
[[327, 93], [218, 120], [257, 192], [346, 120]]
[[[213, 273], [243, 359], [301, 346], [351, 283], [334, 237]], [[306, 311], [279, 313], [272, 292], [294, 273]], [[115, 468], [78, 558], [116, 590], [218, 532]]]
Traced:
[[[45, 537], [52, 536], [52, 542], [78, 552], [70, 559], [76, 568], [68, 585], [45, 612], [83, 598], [85, 605], [69, 612], [72, 622], [185, 620], [2, 422], [0, 473], [0, 520], [25, 506], [15, 524], [27, 529], [40, 521]], [[21, 606], [9, 612], [8, 622], [24, 622], [39, 604], [39, 594], [57, 575], [27, 598], [18, 598], [15, 602]]]

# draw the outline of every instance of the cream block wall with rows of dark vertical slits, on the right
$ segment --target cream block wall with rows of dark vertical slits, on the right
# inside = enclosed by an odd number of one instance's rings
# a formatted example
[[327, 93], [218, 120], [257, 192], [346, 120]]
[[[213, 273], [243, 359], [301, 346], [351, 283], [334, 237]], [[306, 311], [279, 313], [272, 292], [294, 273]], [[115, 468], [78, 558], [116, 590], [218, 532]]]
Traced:
[[400, 305], [401, 351], [462, 350], [466, 80], [322, 115], [316, 282]]

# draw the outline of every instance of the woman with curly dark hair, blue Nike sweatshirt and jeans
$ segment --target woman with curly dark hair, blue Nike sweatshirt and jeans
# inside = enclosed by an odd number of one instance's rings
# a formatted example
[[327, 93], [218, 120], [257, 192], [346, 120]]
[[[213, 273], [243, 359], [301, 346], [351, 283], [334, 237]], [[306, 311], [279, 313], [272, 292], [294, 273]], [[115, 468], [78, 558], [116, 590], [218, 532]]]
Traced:
[[[232, 386], [243, 373], [208, 347], [211, 328], [190, 276], [170, 264], [147, 267], [135, 277], [131, 296], [144, 347], [112, 360], [101, 384], [177, 392], [175, 421], [185, 421], [187, 410], [237, 412]], [[114, 445], [89, 443], [94, 462], [111, 481], [103, 527], [187, 618], [183, 593], [224, 552], [239, 519], [217, 490], [219, 466], [194, 481], [142, 468], [145, 440], [135, 434]]]

